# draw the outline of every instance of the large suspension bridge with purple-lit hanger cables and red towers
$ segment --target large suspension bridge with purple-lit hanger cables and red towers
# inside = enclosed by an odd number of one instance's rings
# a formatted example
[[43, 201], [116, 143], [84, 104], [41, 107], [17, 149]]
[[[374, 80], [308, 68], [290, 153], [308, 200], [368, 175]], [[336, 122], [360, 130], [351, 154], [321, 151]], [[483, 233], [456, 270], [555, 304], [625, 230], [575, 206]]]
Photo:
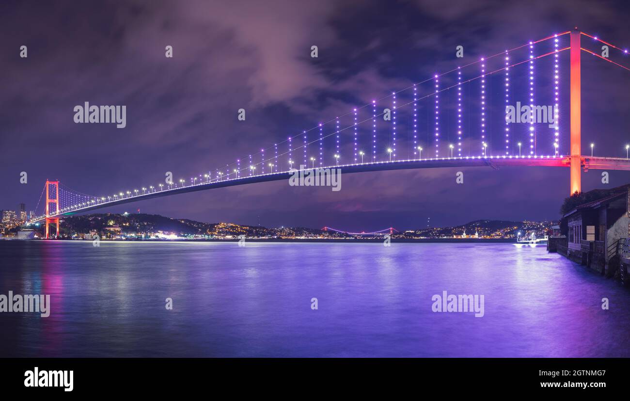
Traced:
[[[627, 50], [578, 30], [532, 40], [392, 91], [190, 180], [165, 180], [100, 196], [72, 190], [59, 180], [47, 180], [36, 214], [26, 225], [45, 221], [49, 238], [53, 224], [59, 236], [59, 218], [64, 214], [287, 180], [296, 170], [318, 168], [358, 173], [474, 166], [564, 167], [570, 169], [570, 194], [581, 192], [582, 170], [630, 170], [627, 154], [626, 158], [581, 154], [581, 55], [594, 55], [630, 70], [582, 47], [583, 37], [627, 54]], [[565, 54], [568, 62], [563, 62]], [[566, 68], [561, 66], [566, 64], [569, 84], [563, 88]], [[566, 99], [561, 99], [567, 91]], [[566, 109], [561, 107], [567, 102]], [[532, 117], [525, 119], [525, 124], [513, 124], [506, 118], [507, 107], [520, 103], [536, 112], [524, 113], [524, 117]], [[533, 118], [536, 113], [541, 117], [544, 107], [540, 105], [550, 105], [553, 112], [547, 117], [553, 124]], [[563, 152], [563, 148], [568, 150]], [[377, 233], [381, 232], [353, 234]]]

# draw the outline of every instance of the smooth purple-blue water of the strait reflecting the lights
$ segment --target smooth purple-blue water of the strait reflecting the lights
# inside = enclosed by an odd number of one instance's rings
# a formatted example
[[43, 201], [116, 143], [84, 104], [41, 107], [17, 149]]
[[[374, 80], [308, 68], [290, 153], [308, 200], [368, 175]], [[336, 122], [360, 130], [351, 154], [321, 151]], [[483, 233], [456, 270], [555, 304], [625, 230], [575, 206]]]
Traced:
[[630, 291], [544, 246], [100, 245], [0, 241], [0, 294], [52, 302], [0, 314], [0, 356], [630, 356]]

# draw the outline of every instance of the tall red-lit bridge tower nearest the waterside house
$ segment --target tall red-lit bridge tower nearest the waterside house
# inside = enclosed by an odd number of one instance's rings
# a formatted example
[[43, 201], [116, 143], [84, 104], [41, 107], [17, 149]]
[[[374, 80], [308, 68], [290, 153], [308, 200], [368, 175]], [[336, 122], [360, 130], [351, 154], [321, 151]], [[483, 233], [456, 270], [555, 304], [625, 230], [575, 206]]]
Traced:
[[581, 183], [581, 77], [580, 31], [571, 36], [571, 195], [582, 190]]

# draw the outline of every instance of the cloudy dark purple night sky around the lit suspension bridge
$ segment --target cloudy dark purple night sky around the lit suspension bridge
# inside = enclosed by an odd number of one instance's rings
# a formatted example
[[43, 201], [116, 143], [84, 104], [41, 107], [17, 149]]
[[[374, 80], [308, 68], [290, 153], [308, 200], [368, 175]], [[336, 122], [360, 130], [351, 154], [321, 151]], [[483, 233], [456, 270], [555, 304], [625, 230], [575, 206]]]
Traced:
[[[630, 46], [624, 1], [3, 1], [0, 6], [0, 209], [34, 209], [47, 178], [91, 195], [164, 182], [164, 173], [193, 175], [280, 144], [319, 122], [483, 57], [577, 26], [620, 47]], [[568, 45], [568, 35], [562, 37]], [[599, 51], [583, 37], [583, 47]], [[20, 46], [28, 57], [20, 58]], [[173, 46], [173, 58], [164, 47]], [[318, 58], [311, 58], [317, 45]], [[464, 47], [464, 59], [455, 47]], [[551, 44], [545, 44], [549, 46]], [[545, 47], [547, 49], [547, 47]], [[542, 51], [542, 45], [537, 51]], [[548, 50], [547, 50], [548, 51]], [[522, 54], [513, 54], [515, 60]], [[582, 148], [625, 157], [630, 71], [583, 53]], [[498, 57], [500, 59], [500, 57]], [[522, 57], [521, 57], [522, 58]], [[547, 57], [549, 59], [549, 57]], [[610, 59], [630, 66], [610, 49]], [[568, 152], [568, 52], [561, 54], [561, 152]], [[537, 102], [551, 59], [536, 64]], [[490, 66], [489, 66], [490, 68]], [[513, 68], [510, 104], [526, 102], [527, 67]], [[478, 75], [478, 67], [466, 71]], [[521, 77], [520, 80], [517, 77]], [[449, 82], [445, 78], [444, 83]], [[501, 154], [503, 76], [488, 78], [488, 140]], [[432, 83], [423, 84], [423, 94]], [[538, 88], [538, 87], [537, 87]], [[399, 96], [409, 100], [410, 92]], [[479, 84], [464, 91], [474, 110]], [[496, 100], [499, 100], [498, 102]], [[453, 139], [455, 91], [440, 93], [442, 141]], [[75, 124], [75, 105], [126, 105], [127, 127]], [[383, 100], [379, 109], [391, 105]], [[433, 100], [418, 106], [419, 142], [433, 133]], [[246, 120], [237, 119], [239, 108]], [[479, 115], [464, 117], [464, 155], [480, 154]], [[371, 117], [365, 114], [362, 117]], [[564, 124], [563, 124], [564, 120]], [[408, 108], [399, 113], [399, 158], [410, 146]], [[342, 119], [342, 126], [352, 116]], [[334, 123], [333, 123], [334, 126]], [[369, 130], [361, 127], [360, 130]], [[379, 158], [391, 133], [379, 123]], [[525, 127], [513, 129], [514, 143]], [[549, 130], [539, 153], [553, 154]], [[327, 132], [329, 133], [329, 132]], [[360, 131], [360, 138], [368, 131]], [[350, 146], [351, 132], [341, 141]], [[318, 133], [309, 131], [309, 139]], [[296, 141], [301, 141], [296, 139]], [[282, 144], [281, 144], [282, 142]], [[371, 149], [369, 149], [371, 151]], [[296, 151], [301, 155], [302, 149]], [[517, 151], [516, 151], [517, 152]], [[351, 148], [343, 148], [350, 161]], [[446, 148], [442, 154], [447, 155]], [[269, 156], [270, 154], [267, 154]], [[310, 155], [310, 153], [309, 153]], [[332, 160], [332, 153], [326, 154]], [[258, 156], [260, 157], [260, 156]], [[346, 156], [344, 156], [346, 157]], [[294, 157], [301, 160], [301, 156]], [[464, 184], [455, 173], [464, 171]], [[20, 183], [20, 172], [28, 183]], [[241, 185], [136, 202], [102, 212], [136, 211], [263, 226], [333, 226], [347, 230], [423, 228], [474, 219], [558, 219], [569, 192], [560, 168], [400, 170], [342, 176], [342, 189], [290, 187], [286, 181]], [[600, 171], [582, 189], [604, 187]], [[630, 182], [610, 171], [610, 187]], [[98, 212], [101, 212], [98, 211]]]

